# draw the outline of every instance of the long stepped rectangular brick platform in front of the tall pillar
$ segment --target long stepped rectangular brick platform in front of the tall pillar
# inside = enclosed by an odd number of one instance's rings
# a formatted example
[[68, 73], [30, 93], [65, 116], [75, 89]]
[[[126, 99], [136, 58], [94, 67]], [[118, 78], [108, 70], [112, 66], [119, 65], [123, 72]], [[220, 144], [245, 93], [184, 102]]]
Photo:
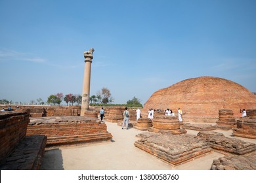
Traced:
[[76, 144], [112, 139], [106, 124], [83, 116], [32, 118], [27, 135], [47, 135], [47, 145]]

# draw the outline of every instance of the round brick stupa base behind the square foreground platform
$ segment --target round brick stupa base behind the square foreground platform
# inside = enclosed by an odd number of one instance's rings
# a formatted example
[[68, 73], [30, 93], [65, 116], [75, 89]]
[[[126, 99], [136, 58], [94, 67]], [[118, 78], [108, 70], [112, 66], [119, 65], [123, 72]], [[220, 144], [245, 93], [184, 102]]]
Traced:
[[179, 118], [173, 116], [155, 116], [152, 120], [154, 132], [170, 132], [172, 134], [186, 133], [185, 129], [180, 128]]

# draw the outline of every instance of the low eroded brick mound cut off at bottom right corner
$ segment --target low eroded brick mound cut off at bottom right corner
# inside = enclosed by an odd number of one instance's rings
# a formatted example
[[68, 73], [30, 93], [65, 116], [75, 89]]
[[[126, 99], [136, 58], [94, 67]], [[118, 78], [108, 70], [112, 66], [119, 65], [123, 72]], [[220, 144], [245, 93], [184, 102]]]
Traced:
[[243, 156], [224, 156], [213, 160], [211, 170], [256, 170], [256, 152]]

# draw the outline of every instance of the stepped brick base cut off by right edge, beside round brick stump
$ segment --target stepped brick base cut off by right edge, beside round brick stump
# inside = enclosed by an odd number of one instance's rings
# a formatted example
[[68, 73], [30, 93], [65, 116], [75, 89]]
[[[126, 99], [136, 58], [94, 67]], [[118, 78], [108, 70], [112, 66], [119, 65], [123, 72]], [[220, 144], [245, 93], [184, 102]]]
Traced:
[[234, 136], [256, 139], [256, 119], [241, 118], [237, 120], [237, 127], [232, 130]]

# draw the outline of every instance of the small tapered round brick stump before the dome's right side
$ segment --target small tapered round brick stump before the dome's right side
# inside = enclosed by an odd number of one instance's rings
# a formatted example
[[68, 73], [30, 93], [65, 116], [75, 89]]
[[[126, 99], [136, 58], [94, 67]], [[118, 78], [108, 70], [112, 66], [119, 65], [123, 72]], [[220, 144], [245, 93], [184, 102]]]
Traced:
[[219, 110], [219, 121], [216, 122], [218, 129], [228, 130], [236, 127], [236, 120], [232, 110], [221, 109]]

